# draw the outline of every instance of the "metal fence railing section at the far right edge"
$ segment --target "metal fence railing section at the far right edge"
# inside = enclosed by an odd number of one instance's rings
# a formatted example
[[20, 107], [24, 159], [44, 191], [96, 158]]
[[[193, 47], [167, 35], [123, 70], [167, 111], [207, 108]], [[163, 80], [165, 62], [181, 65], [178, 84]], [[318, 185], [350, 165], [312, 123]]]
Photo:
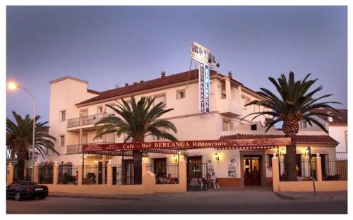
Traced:
[[347, 159], [326, 158], [321, 164], [323, 169], [323, 181], [347, 181]]

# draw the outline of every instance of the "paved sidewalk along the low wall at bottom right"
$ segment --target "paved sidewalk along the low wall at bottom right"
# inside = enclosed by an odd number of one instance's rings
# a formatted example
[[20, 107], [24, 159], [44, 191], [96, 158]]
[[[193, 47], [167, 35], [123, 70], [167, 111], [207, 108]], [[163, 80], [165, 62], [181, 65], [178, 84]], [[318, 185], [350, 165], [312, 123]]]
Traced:
[[278, 197], [285, 200], [347, 200], [347, 191], [336, 192], [276, 192]]

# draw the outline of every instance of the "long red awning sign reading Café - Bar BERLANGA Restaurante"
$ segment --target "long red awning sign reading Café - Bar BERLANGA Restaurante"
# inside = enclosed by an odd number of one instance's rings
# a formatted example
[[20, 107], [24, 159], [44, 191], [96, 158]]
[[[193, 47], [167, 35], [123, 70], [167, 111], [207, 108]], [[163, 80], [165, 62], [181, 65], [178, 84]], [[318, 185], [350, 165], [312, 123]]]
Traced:
[[133, 142], [83, 145], [83, 152], [114, 151], [121, 149], [194, 149], [208, 147], [277, 147], [289, 145], [290, 138], [253, 138], [231, 140], [186, 140], [161, 142]]

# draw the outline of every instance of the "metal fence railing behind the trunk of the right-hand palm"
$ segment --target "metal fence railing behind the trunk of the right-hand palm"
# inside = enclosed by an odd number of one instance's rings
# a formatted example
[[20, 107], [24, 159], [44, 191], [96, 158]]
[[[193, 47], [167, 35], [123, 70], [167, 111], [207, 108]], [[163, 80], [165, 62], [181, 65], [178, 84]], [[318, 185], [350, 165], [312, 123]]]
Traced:
[[[280, 181], [287, 181], [287, 158], [280, 157], [278, 161], [280, 169]], [[309, 157], [297, 157], [296, 171], [297, 181], [312, 181], [313, 179], [311, 176], [313, 176], [313, 178], [316, 180], [316, 158], [313, 157], [310, 160]]]

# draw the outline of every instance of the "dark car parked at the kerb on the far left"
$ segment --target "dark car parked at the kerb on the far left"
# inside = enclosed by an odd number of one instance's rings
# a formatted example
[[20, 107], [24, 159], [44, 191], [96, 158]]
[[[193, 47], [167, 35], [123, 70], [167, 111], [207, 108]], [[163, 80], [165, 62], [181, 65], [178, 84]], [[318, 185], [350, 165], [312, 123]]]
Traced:
[[47, 186], [37, 185], [37, 183], [31, 181], [16, 181], [6, 188], [6, 198], [15, 198], [16, 201], [20, 201], [23, 198], [35, 197], [43, 200], [47, 197], [48, 193]]

